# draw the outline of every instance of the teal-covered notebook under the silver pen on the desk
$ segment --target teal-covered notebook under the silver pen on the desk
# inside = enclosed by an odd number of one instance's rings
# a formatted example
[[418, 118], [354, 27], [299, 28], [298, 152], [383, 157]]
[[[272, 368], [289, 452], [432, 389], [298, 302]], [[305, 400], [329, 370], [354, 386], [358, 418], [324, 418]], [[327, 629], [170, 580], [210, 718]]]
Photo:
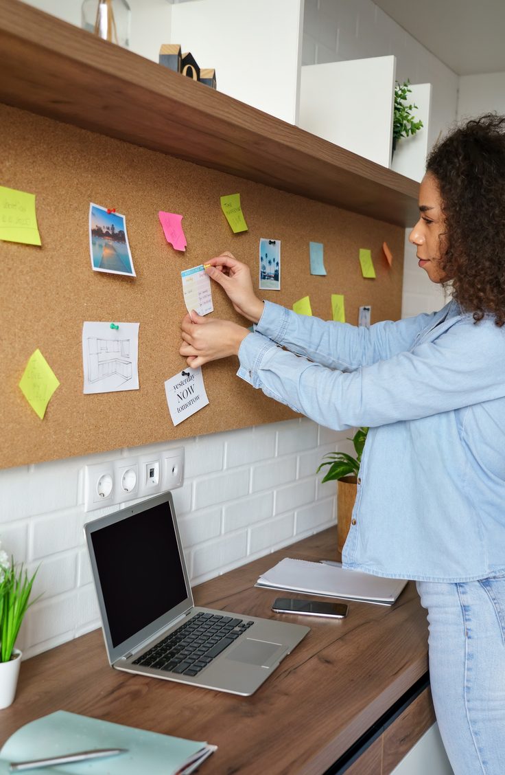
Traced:
[[28, 772], [31, 775], [173, 775], [180, 770], [189, 773], [196, 769], [197, 765], [184, 770], [184, 764], [198, 751], [202, 751], [199, 763], [215, 751], [215, 746], [208, 746], [206, 742], [56, 711], [37, 718], [11, 735], [0, 751], [0, 773], [9, 773], [9, 762], [47, 759], [97, 748], [126, 748], [128, 753], [74, 764], [39, 767]]

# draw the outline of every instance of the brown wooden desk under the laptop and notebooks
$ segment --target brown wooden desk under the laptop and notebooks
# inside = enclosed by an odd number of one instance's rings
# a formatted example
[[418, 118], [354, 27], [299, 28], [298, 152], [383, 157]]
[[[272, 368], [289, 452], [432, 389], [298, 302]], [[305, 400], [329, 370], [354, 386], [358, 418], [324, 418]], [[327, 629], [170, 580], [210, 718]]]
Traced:
[[[252, 586], [259, 574], [284, 556], [335, 558], [336, 543], [335, 528], [320, 532], [195, 587], [195, 602], [281, 616], [270, 611], [276, 592]], [[215, 743], [202, 775], [325, 773], [428, 670], [426, 618], [411, 582], [392, 608], [351, 602], [342, 621], [290, 621], [311, 632], [250, 698], [112, 670], [95, 630], [22, 663], [15, 702], [0, 711], [0, 744], [20, 725], [64, 709]], [[421, 704], [420, 715], [407, 709], [413, 737], [398, 735], [395, 722], [347, 771], [386, 773], [388, 756], [392, 768], [432, 723], [429, 702]], [[387, 735], [401, 739], [397, 754], [386, 751]]]

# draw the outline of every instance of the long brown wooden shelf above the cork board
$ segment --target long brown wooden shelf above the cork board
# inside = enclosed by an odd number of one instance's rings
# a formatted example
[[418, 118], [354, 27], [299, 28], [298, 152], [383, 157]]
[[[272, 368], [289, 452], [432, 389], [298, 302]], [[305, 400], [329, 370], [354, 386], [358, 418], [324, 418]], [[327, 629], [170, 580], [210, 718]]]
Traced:
[[0, 102], [412, 226], [416, 181], [61, 22], [0, 0]]

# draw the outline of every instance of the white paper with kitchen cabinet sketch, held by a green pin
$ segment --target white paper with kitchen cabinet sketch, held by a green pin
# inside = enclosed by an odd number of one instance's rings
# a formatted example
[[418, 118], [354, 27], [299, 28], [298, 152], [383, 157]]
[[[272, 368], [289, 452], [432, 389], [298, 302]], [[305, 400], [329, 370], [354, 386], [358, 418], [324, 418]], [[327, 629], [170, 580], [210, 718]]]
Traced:
[[112, 325], [86, 321], [82, 326], [85, 394], [139, 390], [139, 323]]

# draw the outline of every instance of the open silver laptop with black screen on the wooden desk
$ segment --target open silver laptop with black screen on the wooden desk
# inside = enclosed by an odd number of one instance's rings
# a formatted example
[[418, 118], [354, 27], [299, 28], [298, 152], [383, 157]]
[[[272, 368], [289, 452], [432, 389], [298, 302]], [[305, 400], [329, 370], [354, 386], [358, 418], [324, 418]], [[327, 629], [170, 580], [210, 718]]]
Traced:
[[116, 670], [248, 696], [309, 627], [194, 605], [170, 492], [84, 525]]

